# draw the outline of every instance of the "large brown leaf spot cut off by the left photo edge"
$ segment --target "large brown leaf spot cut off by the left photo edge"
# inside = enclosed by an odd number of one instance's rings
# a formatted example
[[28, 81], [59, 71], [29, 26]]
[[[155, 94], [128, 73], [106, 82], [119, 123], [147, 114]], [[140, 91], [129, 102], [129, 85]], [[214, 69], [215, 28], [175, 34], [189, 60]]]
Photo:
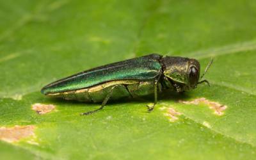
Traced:
[[12, 143], [19, 141], [22, 138], [35, 136], [34, 129], [35, 127], [33, 125], [15, 125], [14, 127], [0, 127], [0, 140]]

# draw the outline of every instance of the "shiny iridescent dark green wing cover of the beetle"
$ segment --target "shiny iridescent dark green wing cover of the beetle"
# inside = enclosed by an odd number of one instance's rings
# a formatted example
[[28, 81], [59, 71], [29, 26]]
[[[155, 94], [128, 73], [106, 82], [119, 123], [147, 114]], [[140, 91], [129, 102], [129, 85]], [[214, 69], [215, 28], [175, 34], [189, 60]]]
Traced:
[[42, 88], [42, 93], [59, 93], [88, 88], [97, 84], [116, 80], [147, 81], [156, 78], [161, 70], [159, 54], [120, 61], [79, 72], [60, 79]]

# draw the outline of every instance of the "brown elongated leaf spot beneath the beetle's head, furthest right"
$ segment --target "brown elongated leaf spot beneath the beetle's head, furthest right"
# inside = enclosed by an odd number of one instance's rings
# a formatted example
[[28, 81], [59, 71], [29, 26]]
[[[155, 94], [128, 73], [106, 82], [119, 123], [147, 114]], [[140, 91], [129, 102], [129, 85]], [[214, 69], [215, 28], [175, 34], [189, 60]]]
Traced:
[[213, 102], [213, 101], [207, 100], [205, 98], [195, 99], [191, 101], [179, 100], [179, 102], [183, 104], [196, 104], [196, 105], [199, 103], [207, 104], [207, 106], [209, 106], [209, 108], [214, 111], [214, 114], [219, 116], [223, 115], [224, 114], [223, 111], [227, 109], [227, 106], [220, 104], [219, 102]]

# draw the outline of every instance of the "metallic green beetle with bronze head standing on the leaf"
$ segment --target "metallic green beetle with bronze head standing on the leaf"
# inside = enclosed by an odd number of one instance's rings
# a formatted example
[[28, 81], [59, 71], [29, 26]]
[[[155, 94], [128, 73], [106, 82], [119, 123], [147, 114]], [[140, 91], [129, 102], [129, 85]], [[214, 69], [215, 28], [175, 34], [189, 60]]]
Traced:
[[[211, 63], [212, 60], [204, 74]], [[103, 109], [109, 99], [154, 93], [154, 105], [147, 106], [148, 111], [152, 111], [157, 103], [158, 92], [166, 89], [184, 92], [196, 88], [197, 84], [208, 83], [207, 80], [200, 81], [199, 76], [200, 63], [195, 59], [149, 54], [79, 72], [48, 84], [41, 92], [49, 97], [66, 100], [102, 102], [99, 109], [83, 115]]]

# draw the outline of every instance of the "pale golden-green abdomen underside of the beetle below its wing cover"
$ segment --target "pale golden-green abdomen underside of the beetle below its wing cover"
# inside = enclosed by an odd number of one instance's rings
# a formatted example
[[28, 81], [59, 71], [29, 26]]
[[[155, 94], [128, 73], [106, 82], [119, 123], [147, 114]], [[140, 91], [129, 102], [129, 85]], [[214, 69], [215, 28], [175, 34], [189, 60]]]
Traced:
[[124, 97], [140, 97], [154, 93], [154, 81], [111, 81], [90, 88], [54, 93], [48, 96], [83, 102], [102, 102], [113, 86], [115, 88], [110, 97], [112, 100]]

